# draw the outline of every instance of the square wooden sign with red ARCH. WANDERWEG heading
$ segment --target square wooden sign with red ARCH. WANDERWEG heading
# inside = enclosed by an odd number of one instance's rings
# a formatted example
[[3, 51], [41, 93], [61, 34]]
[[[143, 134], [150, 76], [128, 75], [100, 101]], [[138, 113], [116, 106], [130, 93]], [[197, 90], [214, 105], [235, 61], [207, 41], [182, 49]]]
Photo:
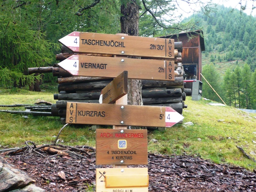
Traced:
[[96, 165], [148, 164], [146, 129], [96, 130]]

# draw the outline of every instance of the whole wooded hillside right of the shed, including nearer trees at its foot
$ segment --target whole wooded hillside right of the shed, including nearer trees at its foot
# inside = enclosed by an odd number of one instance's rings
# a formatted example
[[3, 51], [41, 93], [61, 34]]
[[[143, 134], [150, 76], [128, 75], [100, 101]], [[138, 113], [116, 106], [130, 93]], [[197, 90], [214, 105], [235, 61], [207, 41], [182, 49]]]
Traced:
[[[208, 16], [193, 14], [204, 31], [202, 74], [220, 97], [236, 108], [256, 108], [256, 18], [217, 6]], [[203, 96], [221, 102], [203, 80]]]

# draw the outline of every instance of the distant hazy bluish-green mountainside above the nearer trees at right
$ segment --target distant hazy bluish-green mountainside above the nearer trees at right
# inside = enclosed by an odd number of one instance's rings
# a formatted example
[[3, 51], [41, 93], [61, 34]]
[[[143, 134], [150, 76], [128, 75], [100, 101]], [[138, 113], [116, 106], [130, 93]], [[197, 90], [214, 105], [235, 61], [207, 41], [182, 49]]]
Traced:
[[[217, 6], [209, 16], [198, 13], [188, 19], [198, 22], [204, 31], [206, 50], [202, 52], [202, 65], [216, 65], [220, 74], [247, 63], [256, 68], [256, 18], [239, 10]], [[238, 61], [238, 62], [236, 62]]]

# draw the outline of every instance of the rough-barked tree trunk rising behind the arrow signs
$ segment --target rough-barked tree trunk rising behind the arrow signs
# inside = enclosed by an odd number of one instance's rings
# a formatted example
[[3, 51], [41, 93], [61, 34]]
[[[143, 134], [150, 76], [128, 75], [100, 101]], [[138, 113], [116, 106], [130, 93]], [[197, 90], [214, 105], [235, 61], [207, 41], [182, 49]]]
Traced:
[[[139, 35], [139, 5], [136, 0], [130, 0], [126, 4], [121, 5], [120, 23], [121, 33], [128, 34], [130, 36]], [[133, 57], [134, 58], [134, 57]], [[142, 83], [141, 80], [128, 80], [128, 104], [130, 105], [143, 105], [142, 102]]]

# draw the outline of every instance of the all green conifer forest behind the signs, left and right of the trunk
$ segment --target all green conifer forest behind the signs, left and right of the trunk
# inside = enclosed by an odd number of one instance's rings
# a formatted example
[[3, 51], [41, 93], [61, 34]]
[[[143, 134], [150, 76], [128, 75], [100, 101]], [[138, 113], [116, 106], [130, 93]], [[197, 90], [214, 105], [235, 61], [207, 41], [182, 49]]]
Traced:
[[[50, 74], [36, 76], [26, 71], [31, 67], [52, 66], [55, 55], [61, 51], [58, 40], [70, 32], [119, 33], [122, 2], [125, 1], [2, 1], [0, 86], [29, 86], [36, 91], [32, 86], [36, 81], [56, 83]], [[153, 2], [142, 1], [139, 35], [157, 37], [203, 30], [204, 77], [226, 104], [256, 109], [256, 18], [240, 10], [212, 6], [206, 12], [195, 12], [175, 23], [171, 16], [163, 16], [176, 8], [162, 3], [162, 9], [157, 9], [160, 2]], [[203, 97], [221, 102], [205, 81]]]

